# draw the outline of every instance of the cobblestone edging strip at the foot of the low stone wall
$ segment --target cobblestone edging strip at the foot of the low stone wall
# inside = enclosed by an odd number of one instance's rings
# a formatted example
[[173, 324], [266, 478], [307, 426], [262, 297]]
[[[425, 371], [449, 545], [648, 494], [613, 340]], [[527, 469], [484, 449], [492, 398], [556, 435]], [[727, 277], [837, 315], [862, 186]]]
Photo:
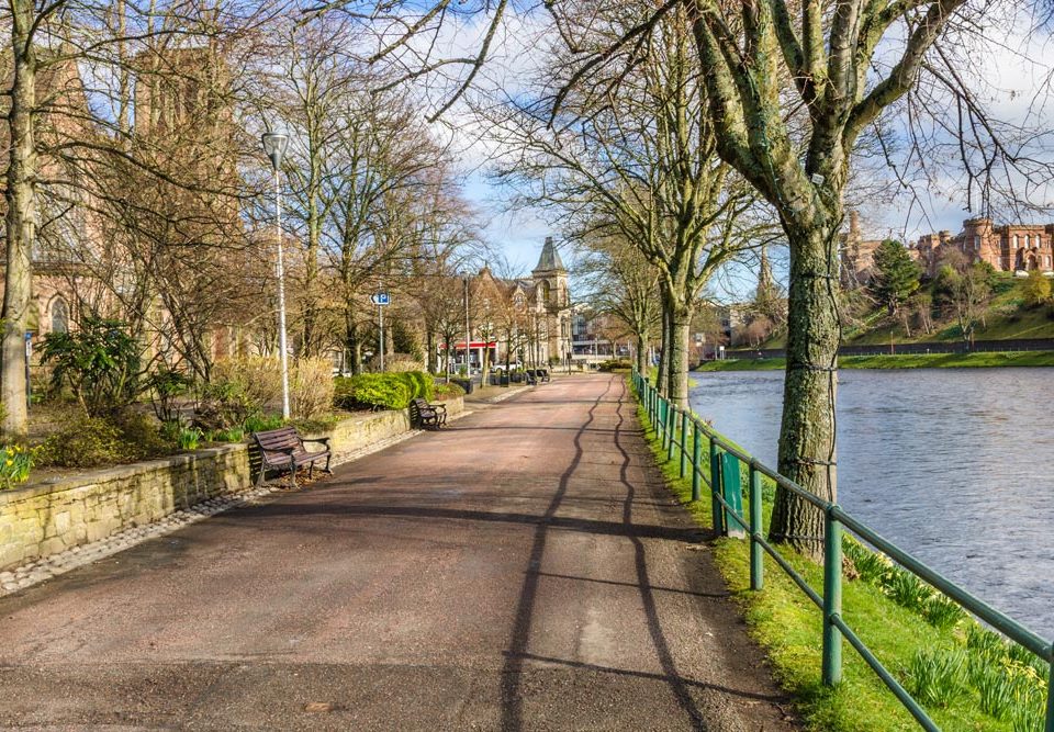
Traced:
[[[449, 421], [456, 421], [457, 419], [466, 417], [470, 414], [472, 413], [468, 410], [460, 412], [451, 415]], [[366, 455], [384, 450], [385, 448], [408, 440], [417, 435], [422, 435], [423, 432], [424, 430], [421, 429], [412, 429], [401, 435], [396, 435], [389, 439], [370, 444], [361, 450], [345, 453], [341, 457], [340, 463], [343, 464], [365, 458]], [[78, 547], [71, 547], [56, 554], [51, 554], [12, 570], [0, 572], [0, 597], [16, 593], [20, 589], [25, 589], [53, 577], [57, 577], [58, 575], [65, 574], [70, 570], [76, 570], [77, 567], [91, 564], [92, 562], [97, 562], [108, 556], [112, 556], [113, 554], [135, 547], [136, 544], [143, 543], [149, 539], [164, 537], [184, 526], [209, 518], [210, 516], [215, 516], [216, 514], [221, 514], [233, 508], [238, 508], [240, 506], [250, 505], [258, 499], [274, 493], [281, 487], [283, 487], [282, 484], [271, 483], [258, 488], [249, 488], [248, 491], [243, 491], [240, 493], [216, 496], [215, 498], [203, 500], [194, 506], [191, 506], [190, 508], [173, 511], [165, 518], [154, 521], [153, 523], [127, 528], [117, 531], [105, 539], [100, 539], [99, 541], [93, 541], [91, 543], [81, 544]]]

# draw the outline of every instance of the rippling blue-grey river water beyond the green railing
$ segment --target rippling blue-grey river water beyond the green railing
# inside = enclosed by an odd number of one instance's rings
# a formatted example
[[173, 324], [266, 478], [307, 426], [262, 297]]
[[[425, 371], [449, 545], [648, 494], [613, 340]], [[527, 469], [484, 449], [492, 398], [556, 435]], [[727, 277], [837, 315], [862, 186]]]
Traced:
[[[692, 407], [770, 468], [782, 371], [694, 373]], [[1054, 637], [1054, 369], [839, 374], [839, 503]]]

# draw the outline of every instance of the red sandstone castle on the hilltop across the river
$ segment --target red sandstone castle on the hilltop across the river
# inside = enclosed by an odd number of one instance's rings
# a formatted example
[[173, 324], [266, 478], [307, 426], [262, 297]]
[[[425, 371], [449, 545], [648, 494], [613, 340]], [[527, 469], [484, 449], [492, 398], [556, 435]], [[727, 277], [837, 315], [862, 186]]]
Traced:
[[927, 274], [937, 273], [942, 257], [957, 250], [972, 261], [985, 261], [1000, 272], [1054, 271], [1054, 224], [1005, 224], [967, 218], [963, 230], [927, 234], [910, 247]]

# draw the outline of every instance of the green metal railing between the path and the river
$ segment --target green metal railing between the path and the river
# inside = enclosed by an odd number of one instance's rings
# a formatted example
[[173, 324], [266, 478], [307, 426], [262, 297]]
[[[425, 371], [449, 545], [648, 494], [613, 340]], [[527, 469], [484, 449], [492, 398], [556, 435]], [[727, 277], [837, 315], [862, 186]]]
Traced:
[[[823, 649], [821, 675], [823, 683], [833, 686], [842, 678], [842, 639], [861, 655], [868, 666], [885, 683], [900, 703], [926, 730], [940, 730], [926, 710], [900, 685], [892, 673], [875, 657], [871, 649], [860, 639], [842, 618], [842, 533], [849, 530], [874, 549], [885, 553], [905, 570], [923, 582], [944, 593], [963, 609], [988, 623], [1014, 643], [1024, 646], [1051, 664], [1046, 696], [1045, 732], [1054, 732], [1054, 644], [1044, 640], [1009, 616], [995, 609], [984, 600], [969, 594], [935, 570], [884, 539], [874, 529], [853, 518], [838, 506], [809, 493], [800, 485], [766, 468], [740, 448], [728, 442], [721, 435], [700, 421], [695, 415], [679, 409], [659, 394], [647, 379], [636, 370], [632, 374], [637, 392], [651, 427], [660, 438], [666, 459], [673, 460], [675, 450], [680, 450], [681, 477], [685, 477], [687, 468], [692, 469], [692, 500], [702, 498], [700, 484], [706, 483], [711, 499], [714, 529], [726, 536], [741, 536], [745, 529], [750, 547], [750, 587], [760, 590], [764, 587], [764, 554], [794, 581], [806, 596], [823, 613]], [[680, 417], [680, 419], [679, 419]], [[680, 437], [677, 435], [680, 428]], [[688, 457], [688, 432], [692, 433], [691, 458]], [[702, 440], [709, 444], [709, 476], [703, 475]], [[740, 465], [748, 466], [748, 508], [749, 516], [742, 516], [739, 507]], [[735, 478], [732, 480], [732, 474]], [[817, 593], [787, 560], [780, 554], [764, 537], [762, 525], [762, 475], [773, 480], [780, 487], [790, 491], [798, 497], [823, 513], [823, 593]]]

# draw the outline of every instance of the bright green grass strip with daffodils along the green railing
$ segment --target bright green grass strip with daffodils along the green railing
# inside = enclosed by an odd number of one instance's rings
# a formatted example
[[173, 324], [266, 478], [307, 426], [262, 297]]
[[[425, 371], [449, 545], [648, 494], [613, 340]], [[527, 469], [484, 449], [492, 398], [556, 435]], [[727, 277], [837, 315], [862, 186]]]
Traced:
[[[709, 496], [704, 493], [703, 500], [692, 502], [691, 480], [679, 476], [680, 455], [668, 462], [655, 430], [647, 427], [643, 407], [638, 406], [638, 418], [670, 489], [700, 526], [713, 528]], [[706, 451], [703, 460], [708, 462]], [[704, 465], [703, 474], [709, 474], [708, 465]], [[762, 516], [766, 529], [773, 495], [773, 484], [764, 483]], [[842, 683], [836, 688], [823, 686], [819, 608], [767, 554], [764, 589], [751, 590], [747, 541], [720, 538], [713, 545], [715, 561], [751, 635], [769, 654], [774, 676], [793, 696], [806, 729], [918, 729], [848, 642], [842, 647]], [[789, 550], [783, 555], [809, 586], [822, 594], [821, 566]], [[941, 606], [946, 600], [932, 588], [913, 575], [904, 578], [908, 573], [859, 542], [848, 540], [846, 556], [850, 568], [842, 587], [845, 621], [942, 729], [1042, 730], [1045, 664], [983, 630], [961, 610], [943, 611]]]

